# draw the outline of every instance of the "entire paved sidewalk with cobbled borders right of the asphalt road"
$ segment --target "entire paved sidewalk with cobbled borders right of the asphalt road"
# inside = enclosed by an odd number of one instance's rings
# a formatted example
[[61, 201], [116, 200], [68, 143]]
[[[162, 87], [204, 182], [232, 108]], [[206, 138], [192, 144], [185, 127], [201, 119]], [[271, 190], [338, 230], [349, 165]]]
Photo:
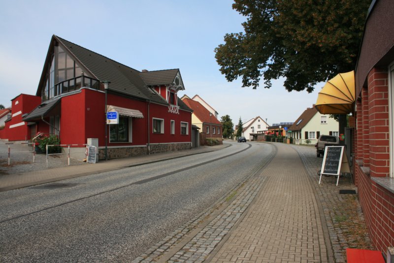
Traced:
[[[234, 198], [219, 200], [133, 263], [344, 263], [347, 247], [372, 249], [357, 195], [339, 194], [357, 190], [351, 178], [340, 177], [335, 186], [335, 177], [323, 176], [319, 185], [323, 159], [315, 148], [275, 145], [295, 154], [264, 164], [261, 175], [234, 189]], [[294, 158], [297, 154], [300, 158]]]

